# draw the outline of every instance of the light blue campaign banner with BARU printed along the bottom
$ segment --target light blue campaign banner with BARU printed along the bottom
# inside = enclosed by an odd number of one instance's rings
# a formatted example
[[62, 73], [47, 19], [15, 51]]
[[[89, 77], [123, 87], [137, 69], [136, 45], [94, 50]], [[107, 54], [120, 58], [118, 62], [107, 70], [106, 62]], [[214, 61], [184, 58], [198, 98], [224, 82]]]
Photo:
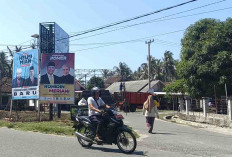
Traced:
[[38, 50], [16, 52], [12, 76], [12, 99], [38, 99]]

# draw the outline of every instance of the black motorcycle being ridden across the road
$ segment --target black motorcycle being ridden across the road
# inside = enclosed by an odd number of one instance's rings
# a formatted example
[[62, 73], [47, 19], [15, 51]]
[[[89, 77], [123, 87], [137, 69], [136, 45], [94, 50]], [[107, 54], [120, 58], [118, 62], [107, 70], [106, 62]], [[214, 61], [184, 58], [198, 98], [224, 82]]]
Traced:
[[103, 116], [107, 116], [109, 121], [100, 130], [102, 141], [99, 142], [94, 140], [96, 126], [89, 117], [77, 114], [74, 128], [80, 145], [91, 147], [93, 144], [115, 144], [126, 154], [134, 152], [137, 146], [136, 138], [132, 130], [123, 124], [123, 116], [117, 114], [113, 108], [105, 109]]

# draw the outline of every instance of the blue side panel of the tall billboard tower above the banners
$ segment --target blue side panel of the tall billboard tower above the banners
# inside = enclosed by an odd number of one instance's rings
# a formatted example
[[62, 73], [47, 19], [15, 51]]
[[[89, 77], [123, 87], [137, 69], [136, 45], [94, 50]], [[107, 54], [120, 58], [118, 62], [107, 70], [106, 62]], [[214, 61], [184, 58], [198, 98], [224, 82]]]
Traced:
[[55, 53], [69, 52], [69, 35], [55, 23]]

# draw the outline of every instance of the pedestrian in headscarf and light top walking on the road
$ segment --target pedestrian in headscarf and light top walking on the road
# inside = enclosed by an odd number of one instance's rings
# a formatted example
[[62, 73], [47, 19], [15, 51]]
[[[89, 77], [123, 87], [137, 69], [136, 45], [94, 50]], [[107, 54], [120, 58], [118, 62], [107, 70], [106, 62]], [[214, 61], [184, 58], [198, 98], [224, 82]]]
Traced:
[[143, 115], [146, 117], [146, 123], [148, 127], [148, 132], [152, 133], [155, 115], [159, 118], [159, 113], [157, 110], [158, 99], [153, 90], [149, 90], [149, 96], [143, 104]]

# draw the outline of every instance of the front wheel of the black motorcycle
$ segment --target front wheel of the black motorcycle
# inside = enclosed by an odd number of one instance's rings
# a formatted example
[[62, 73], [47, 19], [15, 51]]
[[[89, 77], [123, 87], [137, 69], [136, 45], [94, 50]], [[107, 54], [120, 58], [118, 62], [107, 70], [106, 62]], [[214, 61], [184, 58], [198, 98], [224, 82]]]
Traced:
[[135, 135], [129, 131], [122, 131], [117, 136], [117, 146], [126, 154], [134, 152], [137, 146]]

